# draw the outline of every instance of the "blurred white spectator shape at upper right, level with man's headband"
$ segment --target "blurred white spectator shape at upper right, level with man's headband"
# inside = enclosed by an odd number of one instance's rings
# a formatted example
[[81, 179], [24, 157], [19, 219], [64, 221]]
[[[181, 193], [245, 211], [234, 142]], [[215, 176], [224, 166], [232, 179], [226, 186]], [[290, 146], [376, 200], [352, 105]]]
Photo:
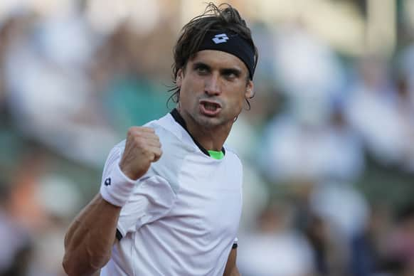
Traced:
[[291, 113], [309, 124], [323, 124], [344, 85], [341, 63], [327, 43], [300, 22], [280, 27], [275, 41], [275, 77]]

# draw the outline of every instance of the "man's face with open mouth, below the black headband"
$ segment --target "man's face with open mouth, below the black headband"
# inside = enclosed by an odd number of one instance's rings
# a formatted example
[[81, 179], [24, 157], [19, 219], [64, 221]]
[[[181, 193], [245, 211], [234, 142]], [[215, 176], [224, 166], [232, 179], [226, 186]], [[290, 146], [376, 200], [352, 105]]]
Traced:
[[179, 109], [204, 128], [233, 124], [246, 97], [253, 96], [253, 82], [248, 68], [235, 55], [204, 50], [179, 70]]

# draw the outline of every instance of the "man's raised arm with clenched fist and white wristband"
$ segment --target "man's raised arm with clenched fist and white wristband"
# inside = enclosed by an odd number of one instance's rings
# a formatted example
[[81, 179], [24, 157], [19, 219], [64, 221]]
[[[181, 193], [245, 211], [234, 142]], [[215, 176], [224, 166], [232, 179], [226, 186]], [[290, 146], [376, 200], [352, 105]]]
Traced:
[[117, 221], [134, 181], [161, 156], [161, 144], [148, 127], [131, 127], [121, 156], [113, 150], [105, 164], [100, 193], [75, 217], [65, 235], [63, 268], [69, 276], [92, 275], [111, 256]]

